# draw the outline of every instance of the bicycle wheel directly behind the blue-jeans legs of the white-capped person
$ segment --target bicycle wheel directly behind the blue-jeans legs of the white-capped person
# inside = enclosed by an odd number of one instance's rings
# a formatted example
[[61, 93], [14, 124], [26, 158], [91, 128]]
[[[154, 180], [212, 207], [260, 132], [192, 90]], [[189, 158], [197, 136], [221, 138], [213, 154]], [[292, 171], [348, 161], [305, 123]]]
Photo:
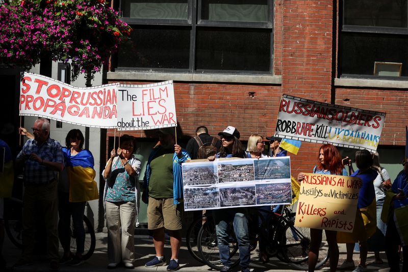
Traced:
[[[215, 233], [214, 220], [207, 220], [206, 223], [201, 227], [198, 232], [198, 252], [200, 253], [201, 259], [211, 268], [215, 270], [221, 270], [222, 262], [220, 260], [220, 254], [218, 251], [217, 235]], [[238, 243], [236, 241], [231, 241], [230, 243], [230, 258], [231, 267], [238, 265], [239, 254]]]

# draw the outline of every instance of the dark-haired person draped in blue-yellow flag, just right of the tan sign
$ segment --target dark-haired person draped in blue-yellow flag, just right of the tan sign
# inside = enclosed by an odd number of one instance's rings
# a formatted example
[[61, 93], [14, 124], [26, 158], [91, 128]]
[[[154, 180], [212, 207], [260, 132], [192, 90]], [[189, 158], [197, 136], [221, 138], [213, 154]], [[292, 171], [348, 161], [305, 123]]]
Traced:
[[352, 233], [339, 232], [337, 239], [338, 242], [347, 243], [347, 258], [339, 267], [344, 267], [346, 264], [352, 264], [354, 266], [352, 258], [353, 247], [355, 242], [360, 242], [360, 264], [353, 272], [362, 272], [367, 270], [367, 240], [375, 233], [377, 228], [373, 182], [378, 172], [371, 168], [373, 158], [368, 150], [359, 150], [355, 153], [355, 164], [359, 169], [353, 172], [351, 177], [360, 178], [363, 184], [359, 190], [358, 210], [355, 216], [354, 228]]

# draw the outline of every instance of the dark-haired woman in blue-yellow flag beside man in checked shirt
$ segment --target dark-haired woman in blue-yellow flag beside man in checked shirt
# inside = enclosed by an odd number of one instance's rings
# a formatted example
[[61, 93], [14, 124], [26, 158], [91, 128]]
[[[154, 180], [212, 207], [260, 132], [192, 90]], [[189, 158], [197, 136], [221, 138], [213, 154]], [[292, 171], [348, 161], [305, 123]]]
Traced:
[[[65, 168], [58, 182], [58, 236], [64, 255], [60, 264], [79, 265], [84, 262], [85, 228], [83, 223], [85, 204], [98, 199], [98, 186], [94, 178], [94, 160], [89, 150], [82, 149], [84, 135], [79, 129], [70, 130], [62, 147]], [[77, 252], [72, 257], [71, 229], [72, 216], [73, 236], [77, 240]]]

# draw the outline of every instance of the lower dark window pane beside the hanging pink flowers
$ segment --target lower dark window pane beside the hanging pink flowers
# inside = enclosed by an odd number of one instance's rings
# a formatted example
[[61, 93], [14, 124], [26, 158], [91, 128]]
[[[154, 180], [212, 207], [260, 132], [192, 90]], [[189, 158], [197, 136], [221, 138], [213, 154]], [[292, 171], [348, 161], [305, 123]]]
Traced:
[[188, 69], [189, 28], [134, 26], [131, 41], [120, 45], [118, 67]]

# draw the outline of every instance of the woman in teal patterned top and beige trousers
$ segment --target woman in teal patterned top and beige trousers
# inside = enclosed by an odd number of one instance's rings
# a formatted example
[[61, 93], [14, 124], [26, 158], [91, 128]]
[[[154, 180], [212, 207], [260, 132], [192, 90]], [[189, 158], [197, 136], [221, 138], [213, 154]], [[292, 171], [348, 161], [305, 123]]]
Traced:
[[135, 218], [137, 222], [140, 195], [137, 177], [140, 160], [133, 155], [135, 138], [124, 134], [120, 147], [111, 151], [102, 176], [106, 180], [104, 203], [108, 227], [108, 268], [115, 268], [120, 262], [126, 268], [134, 268], [135, 260]]

